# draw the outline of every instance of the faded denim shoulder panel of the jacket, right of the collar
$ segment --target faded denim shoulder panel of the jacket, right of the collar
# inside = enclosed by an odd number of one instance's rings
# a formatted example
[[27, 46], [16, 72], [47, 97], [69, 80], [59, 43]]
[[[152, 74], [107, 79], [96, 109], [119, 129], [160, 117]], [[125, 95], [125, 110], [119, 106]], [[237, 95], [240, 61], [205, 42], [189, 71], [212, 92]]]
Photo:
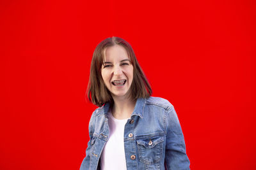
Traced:
[[146, 103], [148, 106], [152, 105], [152, 106], [159, 106], [161, 108], [164, 108], [165, 110], [170, 110], [171, 108], [173, 108], [173, 105], [166, 99], [163, 99], [161, 97], [148, 97], [148, 99], [146, 99]]

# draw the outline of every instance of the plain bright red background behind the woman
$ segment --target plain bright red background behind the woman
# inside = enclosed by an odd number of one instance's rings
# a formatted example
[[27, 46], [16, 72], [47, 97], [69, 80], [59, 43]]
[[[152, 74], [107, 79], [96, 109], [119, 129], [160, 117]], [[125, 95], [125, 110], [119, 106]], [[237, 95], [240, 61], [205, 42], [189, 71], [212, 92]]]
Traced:
[[95, 46], [131, 43], [191, 169], [255, 169], [255, 1], [1, 1], [0, 169], [79, 169]]

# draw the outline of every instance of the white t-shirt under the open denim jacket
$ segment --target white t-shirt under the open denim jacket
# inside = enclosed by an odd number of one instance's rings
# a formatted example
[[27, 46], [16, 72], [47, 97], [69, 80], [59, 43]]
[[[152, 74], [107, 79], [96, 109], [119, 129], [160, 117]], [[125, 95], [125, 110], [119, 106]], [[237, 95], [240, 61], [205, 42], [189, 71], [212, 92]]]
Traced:
[[109, 139], [100, 157], [101, 170], [127, 169], [124, 152], [124, 126], [128, 118], [119, 120], [108, 112]]

